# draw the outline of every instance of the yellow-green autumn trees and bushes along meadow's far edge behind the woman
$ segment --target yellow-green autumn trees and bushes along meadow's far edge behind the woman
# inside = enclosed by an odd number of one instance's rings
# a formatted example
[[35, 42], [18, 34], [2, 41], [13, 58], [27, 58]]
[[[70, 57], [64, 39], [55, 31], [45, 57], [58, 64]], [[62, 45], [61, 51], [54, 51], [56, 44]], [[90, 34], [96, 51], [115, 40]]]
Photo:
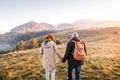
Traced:
[[[20, 50], [38, 48], [38, 47], [41, 46], [42, 42], [43, 42], [42, 40], [38, 41], [37, 38], [32, 38], [30, 40], [30, 42], [25, 42], [24, 40], [20, 40], [14, 49], [0, 51], [0, 54], [5, 54], [5, 53], [9, 53], [9, 52], [14, 52], [14, 51], [20, 51]], [[56, 42], [57, 45], [62, 43], [61, 40], [56, 40], [55, 42]]]

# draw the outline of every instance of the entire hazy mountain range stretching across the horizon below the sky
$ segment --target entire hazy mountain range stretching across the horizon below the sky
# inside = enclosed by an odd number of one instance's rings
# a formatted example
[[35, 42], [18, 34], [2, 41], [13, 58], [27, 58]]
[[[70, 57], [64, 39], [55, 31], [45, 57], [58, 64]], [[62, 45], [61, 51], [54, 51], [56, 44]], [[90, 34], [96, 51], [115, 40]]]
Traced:
[[[10, 32], [0, 34], [0, 50], [11, 49], [20, 40], [29, 40], [33, 37], [39, 37], [48, 33], [55, 33], [61, 30], [68, 30], [71, 28], [79, 29], [98, 29], [104, 27], [119, 27], [120, 21], [106, 20], [96, 21], [90, 19], [78, 20], [73, 23], [61, 23], [52, 25], [49, 23], [37, 23], [30, 21], [22, 25], [16, 26]], [[3, 46], [4, 45], [4, 46]]]

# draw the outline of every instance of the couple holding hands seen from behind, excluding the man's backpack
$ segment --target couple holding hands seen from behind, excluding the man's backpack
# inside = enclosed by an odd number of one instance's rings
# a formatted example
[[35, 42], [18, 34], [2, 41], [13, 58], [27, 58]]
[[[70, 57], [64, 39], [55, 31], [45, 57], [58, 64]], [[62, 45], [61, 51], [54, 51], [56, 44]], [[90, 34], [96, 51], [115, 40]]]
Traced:
[[[45, 37], [45, 40], [40, 47], [40, 53], [42, 54], [42, 66], [45, 69], [46, 80], [50, 80], [49, 79], [50, 75], [51, 75], [51, 80], [55, 80], [55, 68], [56, 68], [55, 55], [57, 55], [63, 63], [66, 60], [68, 60], [68, 80], [80, 80], [80, 69], [82, 62], [80, 60], [75, 60], [73, 58], [72, 53], [75, 48], [75, 43], [72, 40], [79, 41], [77, 32], [73, 32], [71, 34], [70, 41], [67, 43], [66, 51], [64, 57], [62, 58], [58, 52], [54, 35], [48, 34]], [[86, 47], [84, 49], [86, 52]], [[72, 78], [73, 69], [75, 69], [75, 79]]]

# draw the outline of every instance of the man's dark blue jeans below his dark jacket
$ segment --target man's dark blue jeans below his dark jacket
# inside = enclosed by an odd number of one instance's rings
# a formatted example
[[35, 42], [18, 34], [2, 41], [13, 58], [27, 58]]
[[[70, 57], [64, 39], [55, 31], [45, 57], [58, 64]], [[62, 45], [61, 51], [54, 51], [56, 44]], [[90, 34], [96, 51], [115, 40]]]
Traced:
[[75, 68], [75, 80], [80, 80], [81, 66], [68, 66], [68, 80], [72, 80], [72, 70]]

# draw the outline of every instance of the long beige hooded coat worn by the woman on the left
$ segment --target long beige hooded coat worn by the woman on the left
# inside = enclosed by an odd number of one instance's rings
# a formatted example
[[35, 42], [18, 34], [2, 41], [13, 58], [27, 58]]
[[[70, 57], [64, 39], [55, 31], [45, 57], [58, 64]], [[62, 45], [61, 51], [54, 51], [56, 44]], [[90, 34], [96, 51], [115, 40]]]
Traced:
[[55, 60], [55, 54], [58, 55], [58, 57], [61, 58], [61, 56], [58, 54], [58, 49], [53, 41], [48, 41], [45, 44], [45, 41], [41, 44], [40, 53], [42, 56], [42, 66], [46, 70], [52, 70], [56, 67], [56, 60]]

